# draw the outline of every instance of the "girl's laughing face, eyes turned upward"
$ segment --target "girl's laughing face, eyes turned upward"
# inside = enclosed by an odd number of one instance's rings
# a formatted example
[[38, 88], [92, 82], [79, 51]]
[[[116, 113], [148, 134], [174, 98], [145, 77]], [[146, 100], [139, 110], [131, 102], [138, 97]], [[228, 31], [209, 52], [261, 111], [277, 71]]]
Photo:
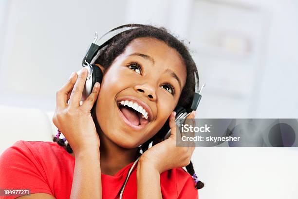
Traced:
[[102, 133], [123, 148], [138, 147], [168, 122], [185, 83], [175, 49], [153, 38], [132, 40], [101, 83], [95, 110]]

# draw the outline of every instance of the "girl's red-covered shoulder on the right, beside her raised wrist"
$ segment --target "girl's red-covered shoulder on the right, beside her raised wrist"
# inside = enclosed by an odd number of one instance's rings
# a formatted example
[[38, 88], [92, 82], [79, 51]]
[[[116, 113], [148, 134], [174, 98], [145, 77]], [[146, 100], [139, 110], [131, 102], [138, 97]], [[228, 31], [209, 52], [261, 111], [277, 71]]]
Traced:
[[[160, 176], [161, 188], [176, 193], [176, 198], [197, 199], [198, 190], [190, 174], [183, 168], [174, 168]], [[167, 191], [167, 192], [168, 192]]]

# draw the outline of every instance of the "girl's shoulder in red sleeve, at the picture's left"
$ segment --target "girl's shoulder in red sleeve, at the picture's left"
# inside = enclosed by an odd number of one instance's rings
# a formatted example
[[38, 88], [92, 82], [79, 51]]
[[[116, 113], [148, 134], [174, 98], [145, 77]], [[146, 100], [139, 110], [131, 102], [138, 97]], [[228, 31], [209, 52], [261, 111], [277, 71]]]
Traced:
[[56, 142], [20, 140], [0, 155], [0, 187], [54, 195], [56, 184], [66, 186], [73, 177], [74, 165], [74, 157]]

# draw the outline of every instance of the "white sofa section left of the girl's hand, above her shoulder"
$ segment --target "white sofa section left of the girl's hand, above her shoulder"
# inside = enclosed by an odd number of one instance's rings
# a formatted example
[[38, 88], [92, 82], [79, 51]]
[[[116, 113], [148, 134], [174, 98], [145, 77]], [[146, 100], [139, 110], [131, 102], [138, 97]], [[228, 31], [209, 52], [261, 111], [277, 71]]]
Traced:
[[18, 140], [52, 141], [53, 113], [0, 105], [0, 153]]

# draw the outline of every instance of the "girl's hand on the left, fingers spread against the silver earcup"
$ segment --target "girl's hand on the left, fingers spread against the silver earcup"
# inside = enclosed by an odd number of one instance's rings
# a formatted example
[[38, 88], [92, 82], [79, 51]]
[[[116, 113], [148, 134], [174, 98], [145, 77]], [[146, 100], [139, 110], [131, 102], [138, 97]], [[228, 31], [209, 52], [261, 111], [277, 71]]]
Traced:
[[[91, 115], [91, 109], [97, 99], [100, 84], [95, 83], [93, 91], [80, 105], [88, 70], [72, 74], [68, 82], [56, 92], [56, 109], [53, 122], [63, 133], [74, 153], [89, 147], [99, 147], [99, 137]], [[69, 100], [69, 104], [68, 104]]]

